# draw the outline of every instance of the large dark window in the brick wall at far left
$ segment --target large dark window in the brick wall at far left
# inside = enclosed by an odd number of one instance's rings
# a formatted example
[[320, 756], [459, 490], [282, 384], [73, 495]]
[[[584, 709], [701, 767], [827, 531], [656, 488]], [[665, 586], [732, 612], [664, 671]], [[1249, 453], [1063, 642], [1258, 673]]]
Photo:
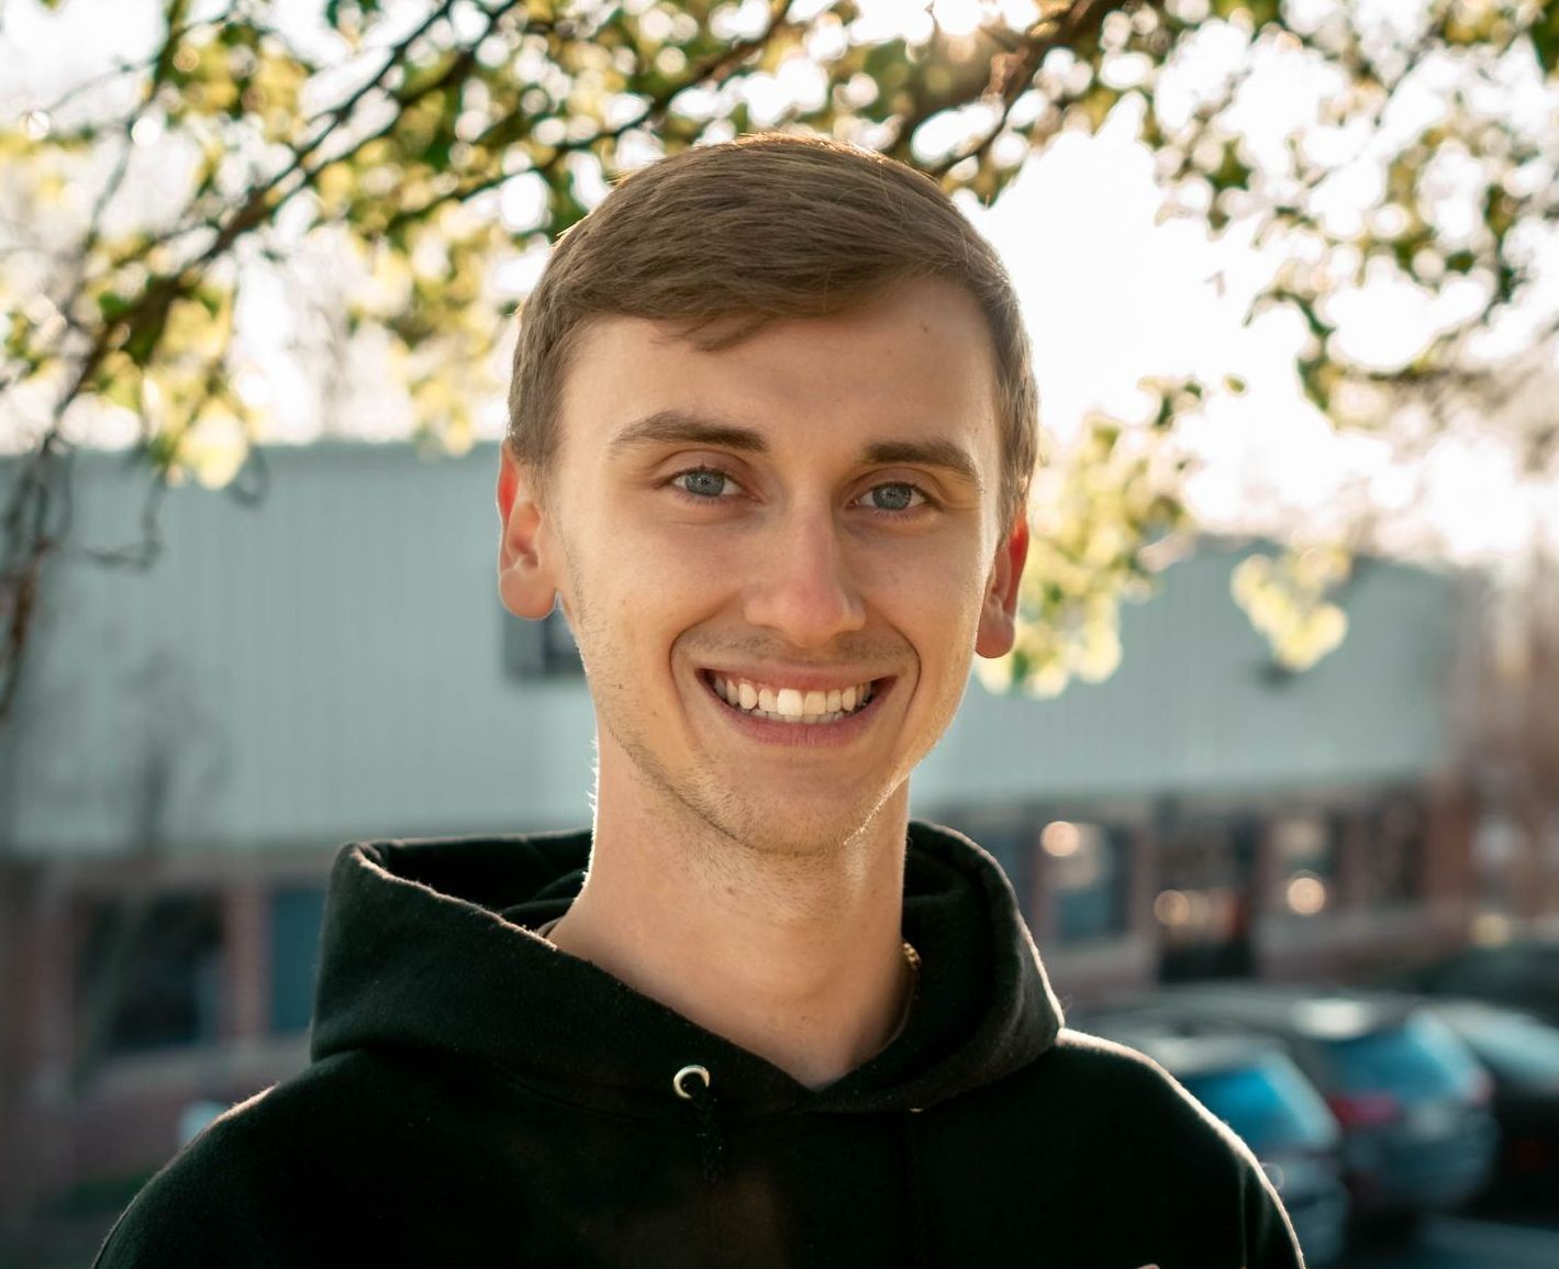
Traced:
[[217, 1038], [215, 895], [100, 900], [78, 962], [81, 1060]]

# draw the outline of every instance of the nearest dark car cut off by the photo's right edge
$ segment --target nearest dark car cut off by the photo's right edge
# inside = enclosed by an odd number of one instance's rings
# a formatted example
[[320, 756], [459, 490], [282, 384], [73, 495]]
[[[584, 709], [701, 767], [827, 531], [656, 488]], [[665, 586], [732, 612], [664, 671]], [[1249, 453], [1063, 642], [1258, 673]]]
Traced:
[[1494, 1077], [1500, 1160], [1489, 1197], [1559, 1210], [1559, 1027], [1481, 1001], [1433, 1009]]

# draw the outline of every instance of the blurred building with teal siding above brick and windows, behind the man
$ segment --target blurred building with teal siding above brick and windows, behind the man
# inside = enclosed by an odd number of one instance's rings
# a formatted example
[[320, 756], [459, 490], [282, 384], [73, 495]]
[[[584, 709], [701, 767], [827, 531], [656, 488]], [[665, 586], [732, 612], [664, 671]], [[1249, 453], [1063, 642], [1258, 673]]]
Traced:
[[[76, 461], [75, 541], [134, 539], [140, 469]], [[265, 465], [257, 508], [173, 491], [150, 571], [72, 558], [48, 575], [0, 728], [12, 1222], [131, 1185], [200, 1104], [304, 1063], [341, 842], [588, 814], [567, 628], [497, 603], [494, 451]], [[1129, 608], [1104, 684], [1049, 702], [971, 688], [917, 776], [917, 814], [1006, 865], [1065, 999], [1347, 977], [1462, 937], [1455, 585], [1370, 567], [1344, 647], [1283, 678], [1228, 597], [1233, 560], [1177, 564]]]

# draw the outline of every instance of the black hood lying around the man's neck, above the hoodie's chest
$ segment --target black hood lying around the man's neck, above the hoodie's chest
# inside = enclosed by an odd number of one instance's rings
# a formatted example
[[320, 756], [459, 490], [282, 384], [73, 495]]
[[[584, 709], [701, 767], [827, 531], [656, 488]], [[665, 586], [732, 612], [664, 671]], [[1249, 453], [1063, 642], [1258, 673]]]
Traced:
[[904, 1029], [822, 1090], [536, 935], [567, 910], [588, 859], [588, 831], [345, 847], [326, 904], [315, 1060], [432, 1051], [628, 1113], [664, 1105], [675, 1073], [697, 1063], [731, 1112], [881, 1112], [992, 1083], [1060, 1029], [1007, 878], [956, 832], [909, 828], [903, 931], [921, 968]]

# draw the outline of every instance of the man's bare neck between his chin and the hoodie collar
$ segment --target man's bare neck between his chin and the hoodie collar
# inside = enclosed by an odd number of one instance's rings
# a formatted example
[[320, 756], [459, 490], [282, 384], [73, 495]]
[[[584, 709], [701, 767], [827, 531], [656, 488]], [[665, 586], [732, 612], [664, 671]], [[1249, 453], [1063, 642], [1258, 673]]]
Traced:
[[912, 982], [907, 789], [847, 842], [787, 854], [666, 811], [599, 801], [589, 876], [552, 942], [811, 1088], [881, 1051]]

